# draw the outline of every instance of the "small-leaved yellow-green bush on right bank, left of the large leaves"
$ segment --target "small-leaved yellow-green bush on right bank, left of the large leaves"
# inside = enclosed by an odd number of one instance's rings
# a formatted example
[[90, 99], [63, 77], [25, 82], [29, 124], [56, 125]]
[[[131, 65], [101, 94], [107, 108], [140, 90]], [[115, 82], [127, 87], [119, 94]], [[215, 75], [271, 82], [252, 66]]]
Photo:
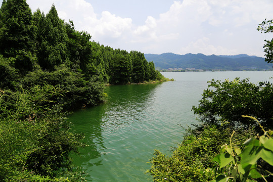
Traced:
[[[216, 126], [203, 126], [194, 130], [188, 130], [183, 142], [168, 157], [155, 151], [151, 159], [149, 172], [154, 181], [208, 181], [213, 179], [210, 168], [213, 167], [214, 156], [220, 146], [229, 142], [231, 135], [229, 128], [217, 128]], [[238, 135], [234, 139], [237, 146], [241, 146], [252, 132], [246, 134], [238, 129]]]

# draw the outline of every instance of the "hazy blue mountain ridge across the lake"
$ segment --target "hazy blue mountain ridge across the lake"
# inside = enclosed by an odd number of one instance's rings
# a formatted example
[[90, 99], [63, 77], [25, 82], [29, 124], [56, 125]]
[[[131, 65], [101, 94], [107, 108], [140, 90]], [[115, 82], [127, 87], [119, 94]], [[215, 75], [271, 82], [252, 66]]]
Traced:
[[161, 55], [145, 54], [148, 62], [153, 61], [159, 70], [168, 68], [194, 68], [203, 70], [273, 70], [264, 58], [240, 54], [235, 56], [206, 56], [204, 54], [177, 55], [164, 53]]

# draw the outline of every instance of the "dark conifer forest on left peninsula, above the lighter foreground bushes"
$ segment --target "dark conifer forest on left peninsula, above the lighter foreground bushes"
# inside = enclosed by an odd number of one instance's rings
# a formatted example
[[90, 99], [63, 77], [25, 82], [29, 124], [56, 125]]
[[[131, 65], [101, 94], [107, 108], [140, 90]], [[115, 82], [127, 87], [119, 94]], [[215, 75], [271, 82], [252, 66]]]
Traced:
[[78, 106], [101, 102], [105, 83], [164, 79], [143, 53], [114, 50], [90, 39], [87, 32], [75, 30], [71, 20], [60, 19], [54, 5], [46, 15], [39, 9], [32, 14], [26, 1], [4, 0], [0, 87], [59, 85], [69, 91], [70, 106]]

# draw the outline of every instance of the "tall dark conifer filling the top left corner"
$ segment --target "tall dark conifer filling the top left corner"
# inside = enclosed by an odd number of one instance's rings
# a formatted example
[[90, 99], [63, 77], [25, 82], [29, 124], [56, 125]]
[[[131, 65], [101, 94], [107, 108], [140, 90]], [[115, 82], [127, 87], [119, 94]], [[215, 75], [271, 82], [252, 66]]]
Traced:
[[21, 71], [31, 70], [33, 58], [32, 13], [26, 0], [3, 1], [0, 11], [0, 54], [15, 58]]

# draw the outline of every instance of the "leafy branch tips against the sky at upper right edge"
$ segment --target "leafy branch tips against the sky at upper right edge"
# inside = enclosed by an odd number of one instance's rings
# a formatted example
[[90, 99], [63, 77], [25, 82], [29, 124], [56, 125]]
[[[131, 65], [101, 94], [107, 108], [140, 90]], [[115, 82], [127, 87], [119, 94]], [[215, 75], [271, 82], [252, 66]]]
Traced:
[[[261, 33], [272, 33], [273, 32], [273, 19], [272, 20], [264, 20], [259, 24], [257, 30], [261, 31]], [[266, 43], [263, 45], [264, 52], [266, 53], [265, 61], [267, 63], [273, 63], [273, 38], [271, 40], [264, 40]]]

